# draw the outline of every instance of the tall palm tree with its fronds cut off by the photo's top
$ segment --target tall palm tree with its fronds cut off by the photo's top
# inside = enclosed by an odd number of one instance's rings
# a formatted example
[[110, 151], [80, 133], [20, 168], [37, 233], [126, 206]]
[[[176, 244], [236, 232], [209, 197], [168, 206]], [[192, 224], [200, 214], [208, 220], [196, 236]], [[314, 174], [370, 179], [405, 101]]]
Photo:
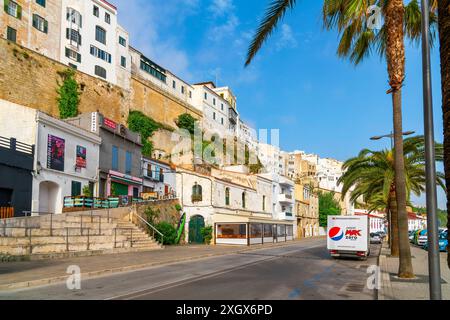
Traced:
[[[284, 17], [287, 10], [292, 9], [296, 0], [273, 0], [262, 19], [250, 44], [245, 65], [254, 59], [263, 43], [268, 39]], [[381, 30], [368, 28], [368, 9], [371, 5], [381, 8], [385, 24]], [[327, 29], [337, 28], [341, 34], [338, 55], [349, 58], [359, 64], [377, 51], [386, 58], [389, 86], [388, 94], [392, 94], [394, 144], [395, 144], [395, 191], [398, 207], [398, 223], [400, 232], [400, 263], [398, 276], [414, 277], [411, 251], [408, 239], [408, 217], [406, 213], [406, 177], [403, 159], [402, 128], [402, 86], [405, 79], [405, 44], [404, 38], [418, 40], [421, 30], [421, 11], [417, 0], [411, 0], [406, 6], [403, 0], [324, 0], [323, 21]], [[430, 24], [436, 23], [434, 13], [430, 16]], [[433, 39], [433, 36], [431, 37]]]

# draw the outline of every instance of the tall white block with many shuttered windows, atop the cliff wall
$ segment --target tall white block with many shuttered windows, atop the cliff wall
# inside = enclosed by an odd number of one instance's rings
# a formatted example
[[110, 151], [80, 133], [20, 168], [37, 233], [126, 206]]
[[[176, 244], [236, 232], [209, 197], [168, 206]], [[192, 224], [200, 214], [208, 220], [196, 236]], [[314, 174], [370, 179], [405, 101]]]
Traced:
[[62, 0], [61, 62], [129, 88], [128, 33], [106, 0]]

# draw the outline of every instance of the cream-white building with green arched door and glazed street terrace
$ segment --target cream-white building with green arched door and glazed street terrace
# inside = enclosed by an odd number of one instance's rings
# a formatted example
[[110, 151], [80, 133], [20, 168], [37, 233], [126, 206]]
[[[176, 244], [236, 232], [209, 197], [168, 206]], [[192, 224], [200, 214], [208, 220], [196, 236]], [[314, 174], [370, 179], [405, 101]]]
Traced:
[[211, 176], [177, 172], [177, 194], [187, 214], [190, 243], [199, 229], [213, 226], [215, 244], [251, 245], [293, 239], [294, 223], [272, 212], [272, 181], [255, 175], [214, 170]]

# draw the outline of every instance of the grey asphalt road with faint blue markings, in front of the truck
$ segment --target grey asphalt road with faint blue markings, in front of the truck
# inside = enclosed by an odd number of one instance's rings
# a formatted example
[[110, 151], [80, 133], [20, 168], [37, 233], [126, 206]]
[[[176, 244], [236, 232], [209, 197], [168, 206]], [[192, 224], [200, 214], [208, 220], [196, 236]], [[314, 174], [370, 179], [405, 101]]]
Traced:
[[380, 246], [367, 261], [331, 259], [325, 239], [175, 263], [66, 284], [0, 292], [0, 299], [335, 300], [376, 299], [366, 286]]

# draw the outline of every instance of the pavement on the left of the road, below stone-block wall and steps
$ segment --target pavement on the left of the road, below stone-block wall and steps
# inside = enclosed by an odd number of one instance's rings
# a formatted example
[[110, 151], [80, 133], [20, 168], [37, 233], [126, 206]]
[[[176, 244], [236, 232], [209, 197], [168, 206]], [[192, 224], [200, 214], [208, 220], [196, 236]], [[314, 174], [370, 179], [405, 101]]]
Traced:
[[152, 266], [198, 260], [208, 257], [241, 253], [271, 247], [291, 246], [318, 238], [307, 238], [285, 243], [236, 246], [166, 246], [163, 250], [109, 254], [100, 256], [76, 257], [57, 260], [38, 260], [0, 263], [0, 291], [20, 289], [67, 280], [67, 268], [79, 266], [81, 278], [132, 271]]

